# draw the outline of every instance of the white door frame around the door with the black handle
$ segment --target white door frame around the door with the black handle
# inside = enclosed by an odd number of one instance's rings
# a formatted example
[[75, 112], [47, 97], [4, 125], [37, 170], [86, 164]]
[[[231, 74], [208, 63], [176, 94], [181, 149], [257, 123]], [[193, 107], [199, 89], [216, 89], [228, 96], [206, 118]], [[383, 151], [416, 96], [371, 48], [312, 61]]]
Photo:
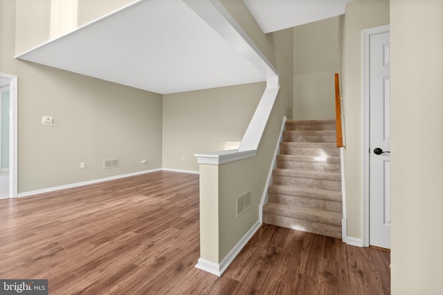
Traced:
[[390, 26], [379, 26], [375, 28], [368, 28], [362, 31], [362, 106], [363, 106], [363, 181], [362, 181], [362, 189], [363, 189], [363, 212], [362, 212], [362, 237], [361, 244], [363, 247], [369, 247], [369, 40], [372, 35], [382, 34], [383, 32], [389, 32]]

